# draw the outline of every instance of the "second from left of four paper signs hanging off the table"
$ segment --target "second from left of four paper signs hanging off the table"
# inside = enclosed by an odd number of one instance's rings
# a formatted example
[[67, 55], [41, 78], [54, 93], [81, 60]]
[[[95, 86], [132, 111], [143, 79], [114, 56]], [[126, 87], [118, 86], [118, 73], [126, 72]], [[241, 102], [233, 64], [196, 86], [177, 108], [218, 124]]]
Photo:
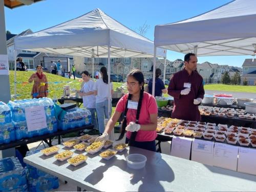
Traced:
[[194, 139], [191, 160], [212, 166], [214, 163], [214, 142]]

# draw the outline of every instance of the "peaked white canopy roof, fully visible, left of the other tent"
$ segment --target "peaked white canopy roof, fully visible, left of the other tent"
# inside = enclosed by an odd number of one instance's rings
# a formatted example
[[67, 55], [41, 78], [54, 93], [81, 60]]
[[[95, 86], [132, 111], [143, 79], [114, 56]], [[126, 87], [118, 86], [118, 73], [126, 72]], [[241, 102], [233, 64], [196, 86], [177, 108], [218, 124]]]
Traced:
[[[15, 50], [91, 57], [152, 57], [154, 42], [118, 23], [100, 9], [14, 40]], [[157, 56], [166, 57], [158, 49]]]

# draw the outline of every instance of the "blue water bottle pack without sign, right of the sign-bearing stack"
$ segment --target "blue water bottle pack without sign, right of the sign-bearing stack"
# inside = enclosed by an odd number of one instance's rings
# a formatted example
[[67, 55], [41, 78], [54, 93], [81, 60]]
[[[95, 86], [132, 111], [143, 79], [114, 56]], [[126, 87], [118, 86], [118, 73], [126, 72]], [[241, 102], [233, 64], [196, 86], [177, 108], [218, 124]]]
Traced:
[[89, 110], [75, 108], [67, 111], [64, 118], [59, 122], [58, 127], [60, 130], [68, 130], [89, 125], [91, 122], [92, 117]]

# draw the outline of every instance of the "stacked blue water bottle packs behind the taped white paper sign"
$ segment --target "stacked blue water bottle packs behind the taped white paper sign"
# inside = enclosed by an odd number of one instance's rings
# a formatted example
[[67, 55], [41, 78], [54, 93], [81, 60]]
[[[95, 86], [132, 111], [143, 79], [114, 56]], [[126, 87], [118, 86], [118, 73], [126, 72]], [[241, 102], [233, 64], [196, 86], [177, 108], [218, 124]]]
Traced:
[[[16, 139], [31, 138], [34, 136], [45, 135], [57, 131], [57, 120], [55, 118], [55, 107], [52, 99], [39, 98], [39, 99], [23, 99], [9, 101], [8, 105], [11, 108], [12, 120], [15, 123], [15, 136]], [[28, 131], [25, 108], [32, 106], [44, 106], [47, 126], [34, 131]]]

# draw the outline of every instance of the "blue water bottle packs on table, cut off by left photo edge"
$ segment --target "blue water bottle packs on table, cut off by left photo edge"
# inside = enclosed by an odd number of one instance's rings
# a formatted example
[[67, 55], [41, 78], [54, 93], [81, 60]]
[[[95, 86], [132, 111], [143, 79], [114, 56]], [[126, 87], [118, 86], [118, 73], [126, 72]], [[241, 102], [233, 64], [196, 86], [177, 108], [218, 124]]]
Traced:
[[15, 140], [14, 124], [11, 120], [11, 109], [0, 101], [0, 144]]

